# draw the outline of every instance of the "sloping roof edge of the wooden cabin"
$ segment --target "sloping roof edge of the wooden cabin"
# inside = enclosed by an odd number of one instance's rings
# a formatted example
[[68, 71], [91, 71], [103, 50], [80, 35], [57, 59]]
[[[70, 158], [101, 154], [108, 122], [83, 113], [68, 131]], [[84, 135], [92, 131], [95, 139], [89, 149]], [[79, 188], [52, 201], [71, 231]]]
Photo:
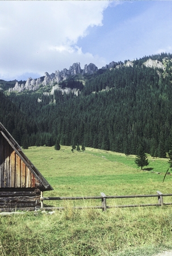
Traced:
[[[32, 172], [32, 174], [39, 181], [39, 185], [37, 188], [39, 188], [41, 191], [53, 190], [53, 188], [48, 183], [48, 181], [45, 180], [43, 175], [41, 175], [41, 173], [37, 170], [37, 168], [32, 164], [32, 162], [23, 153], [22, 148], [15, 141], [15, 139], [12, 138], [11, 134], [5, 129], [5, 127], [2, 125], [1, 122], [0, 122], [0, 133], [3, 135], [3, 137], [6, 139], [6, 141], [10, 144], [10, 146], [13, 148], [13, 150], [19, 156], [19, 158], [23, 161], [23, 163], [26, 164], [27, 168]], [[1, 147], [1, 145], [0, 145], [0, 147]]]

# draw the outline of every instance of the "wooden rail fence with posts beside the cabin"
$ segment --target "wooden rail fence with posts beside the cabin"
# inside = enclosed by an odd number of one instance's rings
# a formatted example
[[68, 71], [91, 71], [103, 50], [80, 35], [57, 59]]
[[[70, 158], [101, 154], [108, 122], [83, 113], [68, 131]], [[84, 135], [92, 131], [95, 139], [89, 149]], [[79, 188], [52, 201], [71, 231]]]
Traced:
[[[164, 203], [164, 196], [172, 196], [172, 194], [163, 194], [160, 191], [157, 191], [156, 195], [128, 195], [128, 196], [106, 196], [103, 192], [100, 193], [100, 196], [84, 196], [84, 197], [43, 197], [43, 192], [41, 192], [41, 210], [65, 210], [66, 207], [44, 207], [43, 201], [51, 200], [88, 200], [88, 199], [101, 199], [102, 205], [100, 206], [91, 206], [91, 207], [73, 207], [73, 209], [102, 209], [106, 211], [110, 208], [125, 208], [125, 207], [151, 207], [151, 206], [161, 206], [163, 205], [172, 205], [172, 203]], [[107, 199], [127, 199], [127, 198], [137, 198], [137, 197], [157, 197], [158, 202], [155, 204], [131, 204], [131, 205], [107, 205]]]

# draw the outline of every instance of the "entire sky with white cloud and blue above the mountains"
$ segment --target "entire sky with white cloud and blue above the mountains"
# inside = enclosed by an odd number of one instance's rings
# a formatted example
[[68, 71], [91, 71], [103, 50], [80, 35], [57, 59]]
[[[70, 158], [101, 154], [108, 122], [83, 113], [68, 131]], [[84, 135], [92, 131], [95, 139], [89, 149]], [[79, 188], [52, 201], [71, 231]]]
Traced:
[[0, 1], [0, 79], [172, 52], [172, 1]]

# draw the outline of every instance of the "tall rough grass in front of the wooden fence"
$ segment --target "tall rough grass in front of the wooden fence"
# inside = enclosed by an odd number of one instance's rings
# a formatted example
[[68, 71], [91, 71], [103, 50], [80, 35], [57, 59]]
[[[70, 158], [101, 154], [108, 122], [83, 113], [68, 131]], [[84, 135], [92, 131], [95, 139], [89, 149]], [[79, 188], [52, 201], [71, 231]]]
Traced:
[[0, 255], [152, 255], [171, 247], [171, 217], [170, 208], [3, 216]]

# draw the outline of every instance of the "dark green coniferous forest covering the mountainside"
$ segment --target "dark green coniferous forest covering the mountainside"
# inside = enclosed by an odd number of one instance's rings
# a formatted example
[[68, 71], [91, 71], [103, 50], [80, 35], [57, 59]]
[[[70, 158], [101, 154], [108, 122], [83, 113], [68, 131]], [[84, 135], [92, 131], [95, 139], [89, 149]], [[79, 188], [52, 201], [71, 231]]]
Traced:
[[[149, 57], [166, 58], [166, 69], [142, 65]], [[78, 96], [0, 92], [0, 121], [24, 148], [58, 140], [129, 155], [142, 144], [148, 154], [165, 158], [172, 149], [172, 55], [149, 57], [136, 59], [133, 67], [85, 75], [85, 85], [77, 77], [61, 83], [79, 89]]]

